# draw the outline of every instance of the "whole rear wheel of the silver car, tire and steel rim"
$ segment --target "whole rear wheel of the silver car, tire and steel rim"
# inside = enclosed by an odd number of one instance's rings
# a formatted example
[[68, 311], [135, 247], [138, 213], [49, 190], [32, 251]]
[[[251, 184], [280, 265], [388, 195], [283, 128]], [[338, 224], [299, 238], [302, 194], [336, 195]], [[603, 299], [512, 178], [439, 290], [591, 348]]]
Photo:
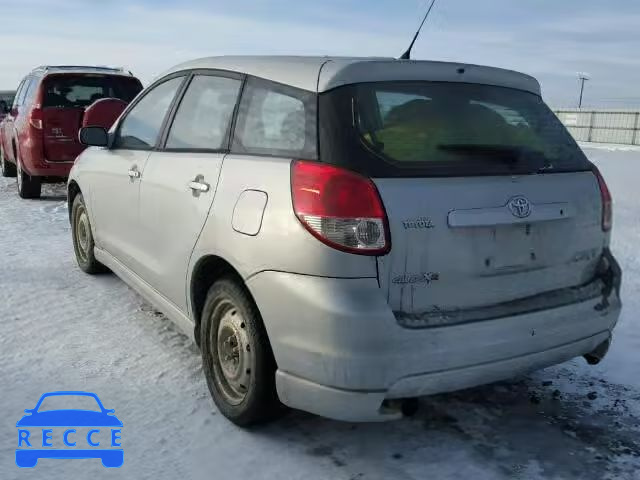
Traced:
[[207, 385], [220, 413], [248, 427], [285, 411], [276, 392], [276, 362], [262, 318], [233, 277], [223, 277], [209, 289], [200, 340]]

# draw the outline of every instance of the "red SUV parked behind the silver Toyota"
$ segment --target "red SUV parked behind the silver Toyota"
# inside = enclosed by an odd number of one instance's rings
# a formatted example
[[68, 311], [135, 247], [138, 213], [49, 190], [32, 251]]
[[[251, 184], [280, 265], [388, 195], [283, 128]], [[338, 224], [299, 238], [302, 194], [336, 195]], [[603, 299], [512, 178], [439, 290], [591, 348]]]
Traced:
[[64, 181], [85, 148], [78, 141], [85, 108], [102, 98], [130, 102], [142, 84], [106, 67], [44, 66], [20, 83], [0, 123], [3, 177], [18, 177], [22, 198], [40, 197], [42, 183]]

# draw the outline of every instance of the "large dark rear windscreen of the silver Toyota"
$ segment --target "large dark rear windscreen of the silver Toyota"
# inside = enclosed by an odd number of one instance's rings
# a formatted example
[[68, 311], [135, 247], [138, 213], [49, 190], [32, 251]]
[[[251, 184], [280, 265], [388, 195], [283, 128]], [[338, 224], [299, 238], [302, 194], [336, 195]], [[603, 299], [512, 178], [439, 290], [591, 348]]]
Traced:
[[556, 116], [529, 92], [453, 82], [379, 82], [335, 89], [321, 96], [320, 105], [323, 157], [330, 152], [328, 161], [346, 162], [371, 176], [590, 168]]

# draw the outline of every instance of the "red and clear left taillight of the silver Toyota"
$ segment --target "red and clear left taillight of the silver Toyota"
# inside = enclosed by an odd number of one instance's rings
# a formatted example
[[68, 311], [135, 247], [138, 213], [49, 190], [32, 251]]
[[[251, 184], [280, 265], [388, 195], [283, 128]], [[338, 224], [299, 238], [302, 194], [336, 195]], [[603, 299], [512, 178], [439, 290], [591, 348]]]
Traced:
[[389, 252], [387, 216], [370, 179], [298, 160], [291, 167], [291, 194], [302, 225], [330, 247], [361, 255]]

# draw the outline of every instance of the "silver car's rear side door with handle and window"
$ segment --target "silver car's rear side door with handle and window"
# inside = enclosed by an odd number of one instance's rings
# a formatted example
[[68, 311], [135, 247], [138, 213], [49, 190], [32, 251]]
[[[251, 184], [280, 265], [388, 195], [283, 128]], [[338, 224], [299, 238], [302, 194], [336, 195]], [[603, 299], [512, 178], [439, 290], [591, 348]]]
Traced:
[[141, 276], [184, 313], [189, 259], [216, 193], [242, 80], [230, 72], [192, 75], [141, 182]]

